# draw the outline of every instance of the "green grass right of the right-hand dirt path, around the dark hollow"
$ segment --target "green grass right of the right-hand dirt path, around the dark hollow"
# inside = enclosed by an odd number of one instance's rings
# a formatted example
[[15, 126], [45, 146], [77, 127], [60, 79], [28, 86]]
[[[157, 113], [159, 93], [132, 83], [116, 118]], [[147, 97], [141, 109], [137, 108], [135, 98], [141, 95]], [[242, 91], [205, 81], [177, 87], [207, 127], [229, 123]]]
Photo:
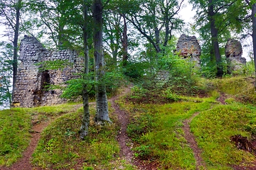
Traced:
[[230, 142], [230, 137], [238, 134], [250, 139], [246, 127], [251, 119], [256, 118], [255, 111], [255, 108], [234, 103], [201, 112], [192, 120], [191, 131], [196, 136], [198, 146], [203, 149], [203, 159], [208, 169], [223, 169], [233, 164], [255, 161], [254, 155], [238, 150]]

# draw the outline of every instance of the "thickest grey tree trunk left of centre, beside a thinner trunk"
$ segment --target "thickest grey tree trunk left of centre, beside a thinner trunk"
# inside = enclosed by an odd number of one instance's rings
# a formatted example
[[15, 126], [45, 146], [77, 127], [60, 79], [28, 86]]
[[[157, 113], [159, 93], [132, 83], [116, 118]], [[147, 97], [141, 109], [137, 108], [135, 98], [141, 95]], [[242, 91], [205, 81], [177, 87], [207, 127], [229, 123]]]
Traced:
[[95, 74], [96, 74], [96, 114], [95, 122], [111, 122], [108, 115], [107, 92], [105, 82], [103, 81], [104, 57], [102, 50], [102, 0], [94, 0], [92, 6], [94, 21], [94, 57], [95, 57]]

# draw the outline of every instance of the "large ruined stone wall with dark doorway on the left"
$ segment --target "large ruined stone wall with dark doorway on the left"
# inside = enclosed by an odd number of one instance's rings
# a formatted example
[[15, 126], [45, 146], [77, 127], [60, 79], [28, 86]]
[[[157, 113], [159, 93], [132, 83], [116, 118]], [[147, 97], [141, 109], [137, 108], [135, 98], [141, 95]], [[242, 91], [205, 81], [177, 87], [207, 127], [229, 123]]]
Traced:
[[[64, 69], [40, 71], [38, 62], [67, 60], [72, 66]], [[49, 51], [36, 38], [24, 36], [21, 40], [18, 73], [13, 106], [33, 107], [64, 103], [59, 89], [48, 90], [47, 85], [62, 85], [73, 79], [73, 73], [82, 70], [82, 57], [73, 50]]]

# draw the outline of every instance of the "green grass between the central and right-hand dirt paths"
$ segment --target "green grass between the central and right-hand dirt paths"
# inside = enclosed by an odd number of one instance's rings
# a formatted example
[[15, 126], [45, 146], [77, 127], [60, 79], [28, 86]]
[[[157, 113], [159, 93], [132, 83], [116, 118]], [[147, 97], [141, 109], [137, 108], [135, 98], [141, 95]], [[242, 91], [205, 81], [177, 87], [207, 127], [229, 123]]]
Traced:
[[196, 168], [193, 151], [183, 137], [182, 120], [210, 108], [210, 103], [126, 106], [132, 114], [127, 132], [135, 142], [135, 157], [157, 162], [160, 169]]

